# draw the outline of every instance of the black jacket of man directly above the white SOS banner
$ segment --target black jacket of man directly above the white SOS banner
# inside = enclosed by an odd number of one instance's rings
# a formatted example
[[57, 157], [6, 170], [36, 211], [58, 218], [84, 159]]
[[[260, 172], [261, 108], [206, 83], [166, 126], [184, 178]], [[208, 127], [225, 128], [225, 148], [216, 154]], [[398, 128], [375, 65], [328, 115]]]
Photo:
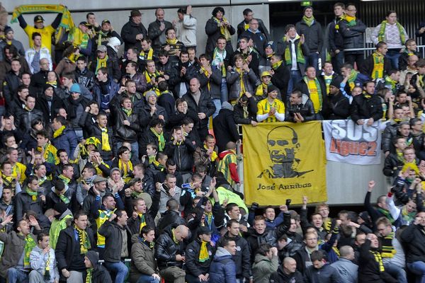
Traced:
[[354, 97], [350, 107], [350, 115], [354, 122], [370, 117], [374, 121], [380, 120], [383, 115], [380, 97], [376, 95], [371, 98], [365, 98], [364, 95]]

